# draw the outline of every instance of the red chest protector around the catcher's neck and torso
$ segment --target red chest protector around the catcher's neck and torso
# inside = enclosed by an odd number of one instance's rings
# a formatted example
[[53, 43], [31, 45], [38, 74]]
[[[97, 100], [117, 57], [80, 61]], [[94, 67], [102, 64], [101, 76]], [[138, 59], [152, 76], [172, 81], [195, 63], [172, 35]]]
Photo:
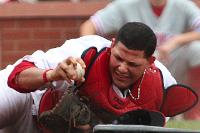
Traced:
[[82, 58], [87, 66], [86, 81], [79, 88], [79, 93], [89, 98], [97, 114], [102, 115], [102, 110], [117, 116], [137, 109], [160, 110], [163, 81], [160, 70], [154, 64], [146, 70], [143, 80], [139, 79], [130, 89], [132, 96], [137, 97], [140, 85], [140, 98], [134, 100], [130, 95], [127, 98], [120, 98], [112, 88], [109, 48], [104, 48], [99, 53], [95, 48], [90, 48]]

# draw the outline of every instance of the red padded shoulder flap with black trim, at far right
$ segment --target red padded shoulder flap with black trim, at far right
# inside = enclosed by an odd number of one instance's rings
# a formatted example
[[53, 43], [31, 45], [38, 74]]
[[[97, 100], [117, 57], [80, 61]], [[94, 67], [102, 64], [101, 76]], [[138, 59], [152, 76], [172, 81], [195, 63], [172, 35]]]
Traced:
[[172, 85], [167, 88], [164, 95], [161, 112], [167, 117], [181, 114], [198, 102], [197, 94], [185, 85]]

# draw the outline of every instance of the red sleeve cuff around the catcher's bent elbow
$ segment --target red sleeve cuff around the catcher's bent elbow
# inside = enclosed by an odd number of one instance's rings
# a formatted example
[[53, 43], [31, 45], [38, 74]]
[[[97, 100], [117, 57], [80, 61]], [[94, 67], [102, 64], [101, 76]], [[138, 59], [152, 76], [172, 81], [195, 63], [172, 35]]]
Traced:
[[18, 92], [27, 93], [27, 89], [20, 88], [20, 86], [15, 83], [14, 79], [20, 72], [30, 67], [35, 67], [35, 65], [34, 63], [28, 62], [28, 61], [22, 61], [20, 64], [15, 66], [15, 68], [13, 69], [13, 71], [10, 73], [8, 77], [8, 82], [7, 82], [8, 86], [15, 89]]

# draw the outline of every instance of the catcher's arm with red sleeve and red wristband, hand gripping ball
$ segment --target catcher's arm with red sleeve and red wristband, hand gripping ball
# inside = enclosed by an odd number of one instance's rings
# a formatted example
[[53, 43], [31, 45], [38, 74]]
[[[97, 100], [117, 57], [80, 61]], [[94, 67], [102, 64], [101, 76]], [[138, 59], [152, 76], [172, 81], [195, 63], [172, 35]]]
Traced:
[[16, 69], [21, 65], [19, 64], [9, 76], [8, 85], [19, 92], [32, 92], [52, 81], [66, 80], [70, 83], [71, 80], [75, 80], [83, 82], [85, 80], [83, 77], [84, 72], [81, 71], [82, 74], [79, 74], [79, 71], [77, 72], [78, 63], [81, 68], [85, 68], [85, 64], [81, 59], [69, 57], [54, 69], [43, 70], [30, 67], [16, 73]]

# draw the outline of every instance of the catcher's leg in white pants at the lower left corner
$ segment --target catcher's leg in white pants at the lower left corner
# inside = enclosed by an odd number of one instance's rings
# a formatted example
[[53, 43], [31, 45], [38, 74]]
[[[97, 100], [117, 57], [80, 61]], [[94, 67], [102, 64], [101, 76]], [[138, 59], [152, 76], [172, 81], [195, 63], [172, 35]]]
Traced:
[[0, 85], [0, 132], [35, 133], [31, 95]]

